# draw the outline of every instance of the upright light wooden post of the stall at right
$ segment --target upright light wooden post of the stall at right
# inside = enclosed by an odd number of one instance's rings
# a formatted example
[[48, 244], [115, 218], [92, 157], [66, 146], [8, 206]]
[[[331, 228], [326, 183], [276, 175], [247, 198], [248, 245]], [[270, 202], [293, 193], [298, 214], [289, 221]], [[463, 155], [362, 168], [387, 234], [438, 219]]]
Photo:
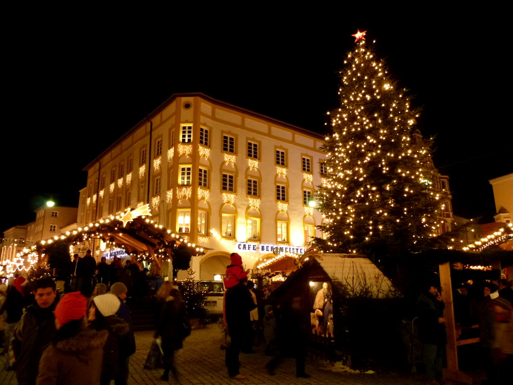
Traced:
[[454, 319], [454, 304], [452, 301], [452, 284], [450, 281], [450, 265], [445, 262], [439, 266], [440, 285], [442, 286], [442, 298], [445, 303], [444, 318], [447, 330], [447, 368], [444, 369], [444, 377], [462, 383], [472, 383], [472, 378], [460, 372], [458, 367], [458, 350], [456, 345], [456, 322]]

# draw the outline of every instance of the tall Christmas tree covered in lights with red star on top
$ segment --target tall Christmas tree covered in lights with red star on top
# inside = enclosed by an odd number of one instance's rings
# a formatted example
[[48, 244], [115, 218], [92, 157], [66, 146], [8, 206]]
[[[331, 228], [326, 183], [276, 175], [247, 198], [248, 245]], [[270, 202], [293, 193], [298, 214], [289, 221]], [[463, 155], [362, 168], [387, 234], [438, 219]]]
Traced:
[[329, 112], [325, 176], [317, 192], [324, 239], [316, 242], [326, 252], [381, 259], [429, 247], [440, 224], [441, 195], [431, 142], [412, 140], [419, 109], [364, 35], [353, 35], [356, 47], [341, 70], [340, 108]]

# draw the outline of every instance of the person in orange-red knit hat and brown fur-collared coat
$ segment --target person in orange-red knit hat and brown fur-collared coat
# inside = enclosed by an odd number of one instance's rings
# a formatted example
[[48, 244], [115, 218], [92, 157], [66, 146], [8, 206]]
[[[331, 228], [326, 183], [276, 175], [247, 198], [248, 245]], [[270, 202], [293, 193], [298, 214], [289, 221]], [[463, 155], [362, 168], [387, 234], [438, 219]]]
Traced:
[[36, 385], [91, 385], [100, 383], [107, 331], [88, 329], [87, 298], [66, 294], [55, 307], [53, 341], [43, 352]]

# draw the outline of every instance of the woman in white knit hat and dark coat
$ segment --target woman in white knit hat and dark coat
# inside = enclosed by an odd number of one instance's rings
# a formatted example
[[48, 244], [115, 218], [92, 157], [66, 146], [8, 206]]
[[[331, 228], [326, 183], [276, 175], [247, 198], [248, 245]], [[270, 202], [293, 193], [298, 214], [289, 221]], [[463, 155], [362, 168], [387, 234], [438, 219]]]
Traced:
[[109, 332], [103, 349], [101, 385], [108, 385], [114, 379], [120, 358], [120, 344], [129, 331], [128, 323], [115, 314], [120, 308], [120, 300], [107, 293], [94, 297], [89, 309], [89, 327]]

